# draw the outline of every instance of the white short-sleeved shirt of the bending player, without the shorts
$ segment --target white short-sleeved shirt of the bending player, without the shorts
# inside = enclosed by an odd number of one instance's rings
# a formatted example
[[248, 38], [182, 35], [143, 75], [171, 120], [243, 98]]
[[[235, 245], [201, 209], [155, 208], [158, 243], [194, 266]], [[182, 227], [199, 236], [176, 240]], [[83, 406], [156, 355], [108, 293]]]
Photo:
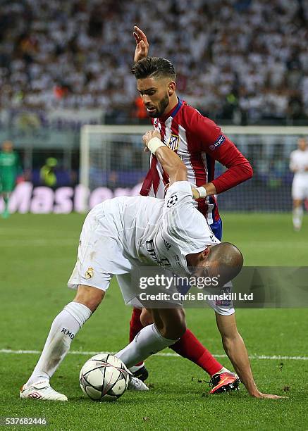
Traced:
[[[128, 260], [159, 265], [187, 273], [187, 254], [203, 251], [219, 241], [192, 199], [187, 181], [173, 183], [165, 199], [151, 196], [120, 197], [105, 201], [101, 209], [113, 219]], [[116, 264], [116, 262], [115, 262]]]

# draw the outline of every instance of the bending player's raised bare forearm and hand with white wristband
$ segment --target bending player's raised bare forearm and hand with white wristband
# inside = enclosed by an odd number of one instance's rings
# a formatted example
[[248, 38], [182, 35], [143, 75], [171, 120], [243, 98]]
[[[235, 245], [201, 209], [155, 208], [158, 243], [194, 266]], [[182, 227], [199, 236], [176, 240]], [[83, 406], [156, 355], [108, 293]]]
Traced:
[[149, 130], [142, 139], [169, 176], [170, 185], [175, 181], [187, 181], [186, 166], [175, 152], [161, 142], [161, 135], [157, 130]]

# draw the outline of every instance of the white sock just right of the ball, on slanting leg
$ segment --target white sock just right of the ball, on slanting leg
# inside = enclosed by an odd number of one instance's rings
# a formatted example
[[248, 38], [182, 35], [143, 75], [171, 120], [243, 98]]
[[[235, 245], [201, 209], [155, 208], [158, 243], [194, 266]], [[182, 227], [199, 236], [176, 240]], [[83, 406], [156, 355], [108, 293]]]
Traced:
[[168, 339], [163, 337], [157, 330], [154, 323], [148, 325], [133, 339], [128, 346], [124, 347], [115, 356], [125, 363], [128, 368], [136, 363], [144, 361], [148, 356], [156, 354], [158, 351], [171, 346], [178, 339]]

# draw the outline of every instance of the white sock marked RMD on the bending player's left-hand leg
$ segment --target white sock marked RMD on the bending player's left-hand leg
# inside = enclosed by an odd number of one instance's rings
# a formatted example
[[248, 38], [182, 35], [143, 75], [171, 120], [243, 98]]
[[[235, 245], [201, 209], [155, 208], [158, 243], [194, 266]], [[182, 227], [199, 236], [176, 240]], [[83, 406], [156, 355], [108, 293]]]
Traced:
[[44, 349], [27, 386], [50, 379], [68, 353], [73, 338], [91, 314], [90, 308], [78, 302], [70, 302], [63, 308], [51, 325]]

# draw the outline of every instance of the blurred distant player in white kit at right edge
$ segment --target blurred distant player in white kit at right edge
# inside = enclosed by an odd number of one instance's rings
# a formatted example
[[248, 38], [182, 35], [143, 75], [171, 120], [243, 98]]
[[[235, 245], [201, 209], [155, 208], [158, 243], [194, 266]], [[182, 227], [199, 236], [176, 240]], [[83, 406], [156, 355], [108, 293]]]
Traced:
[[294, 230], [302, 227], [304, 199], [308, 199], [308, 145], [307, 139], [300, 138], [297, 141], [297, 149], [290, 154], [290, 170], [294, 172], [292, 182], [293, 213], [292, 221]]

